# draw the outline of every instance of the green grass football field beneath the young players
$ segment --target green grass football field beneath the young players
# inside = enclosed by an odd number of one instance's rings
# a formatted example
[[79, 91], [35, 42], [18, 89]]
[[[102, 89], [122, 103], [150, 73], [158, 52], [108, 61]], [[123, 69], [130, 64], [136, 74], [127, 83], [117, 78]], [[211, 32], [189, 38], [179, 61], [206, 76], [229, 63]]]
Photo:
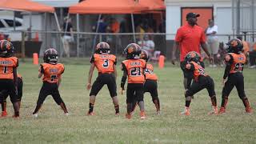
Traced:
[[[86, 90], [86, 82], [90, 63], [83, 58], [64, 63], [66, 71], [60, 93], [70, 116], [66, 117], [49, 96], [38, 118], [32, 117], [42, 80], [38, 79], [38, 66], [26, 60], [18, 69], [24, 80], [21, 118], [10, 118], [13, 109], [8, 100], [9, 116], [0, 118], [0, 143], [256, 143], [256, 114], [245, 114], [236, 90], [230, 94], [226, 114], [207, 115], [211, 110], [210, 98], [206, 90], [202, 90], [191, 102], [191, 116], [181, 116], [179, 113], [185, 101], [182, 70], [167, 63], [166, 68], [159, 70], [155, 66], [154, 70], [159, 78], [162, 115], [155, 114], [150, 94], [145, 94], [147, 119], [140, 120], [137, 109], [134, 117], [127, 120], [126, 95], [118, 94], [121, 115], [116, 117], [109, 92], [104, 87], [96, 99], [96, 115], [86, 116], [90, 93]], [[206, 67], [206, 72], [214, 78], [218, 105], [223, 71], [224, 68]], [[94, 79], [96, 76], [94, 71]], [[118, 90], [121, 76], [118, 68]], [[255, 109], [255, 70], [245, 68], [244, 76], [246, 94]]]

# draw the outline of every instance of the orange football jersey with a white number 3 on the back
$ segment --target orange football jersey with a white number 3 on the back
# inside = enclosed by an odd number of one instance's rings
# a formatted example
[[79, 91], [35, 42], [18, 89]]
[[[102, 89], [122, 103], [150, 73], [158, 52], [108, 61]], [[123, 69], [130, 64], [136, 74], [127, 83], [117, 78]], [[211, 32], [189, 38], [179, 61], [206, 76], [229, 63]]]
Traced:
[[113, 54], [94, 54], [90, 58], [90, 63], [95, 64], [99, 73], [112, 73], [113, 66], [117, 64], [117, 58]]

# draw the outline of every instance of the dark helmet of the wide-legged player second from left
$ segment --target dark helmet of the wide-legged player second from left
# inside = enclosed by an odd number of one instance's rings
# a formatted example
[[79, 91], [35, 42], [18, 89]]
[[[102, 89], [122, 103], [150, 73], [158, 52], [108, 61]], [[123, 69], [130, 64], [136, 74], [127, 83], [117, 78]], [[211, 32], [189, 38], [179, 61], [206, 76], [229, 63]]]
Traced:
[[50, 48], [47, 49], [43, 55], [43, 61], [46, 63], [54, 63], [58, 62], [58, 52], [57, 50]]

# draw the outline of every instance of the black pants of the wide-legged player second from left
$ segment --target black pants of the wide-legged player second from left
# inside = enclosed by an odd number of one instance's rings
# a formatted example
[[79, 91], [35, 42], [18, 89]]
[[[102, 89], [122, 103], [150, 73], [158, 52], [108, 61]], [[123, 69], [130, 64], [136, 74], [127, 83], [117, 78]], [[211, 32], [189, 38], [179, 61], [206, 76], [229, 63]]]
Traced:
[[48, 95], [51, 95], [54, 98], [54, 101], [60, 105], [63, 101], [62, 98], [58, 92], [58, 85], [57, 83], [50, 83], [50, 82], [43, 82], [42, 88], [39, 93], [38, 97], [38, 105], [42, 105], [42, 103], [45, 101], [46, 97]]

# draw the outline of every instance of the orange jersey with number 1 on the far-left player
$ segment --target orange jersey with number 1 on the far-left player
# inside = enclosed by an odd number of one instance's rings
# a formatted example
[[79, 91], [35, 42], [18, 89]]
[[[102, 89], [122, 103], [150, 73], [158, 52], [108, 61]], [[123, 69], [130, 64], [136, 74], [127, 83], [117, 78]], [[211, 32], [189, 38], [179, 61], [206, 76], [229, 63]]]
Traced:
[[15, 67], [18, 67], [18, 58], [0, 58], [0, 79], [14, 79]]

